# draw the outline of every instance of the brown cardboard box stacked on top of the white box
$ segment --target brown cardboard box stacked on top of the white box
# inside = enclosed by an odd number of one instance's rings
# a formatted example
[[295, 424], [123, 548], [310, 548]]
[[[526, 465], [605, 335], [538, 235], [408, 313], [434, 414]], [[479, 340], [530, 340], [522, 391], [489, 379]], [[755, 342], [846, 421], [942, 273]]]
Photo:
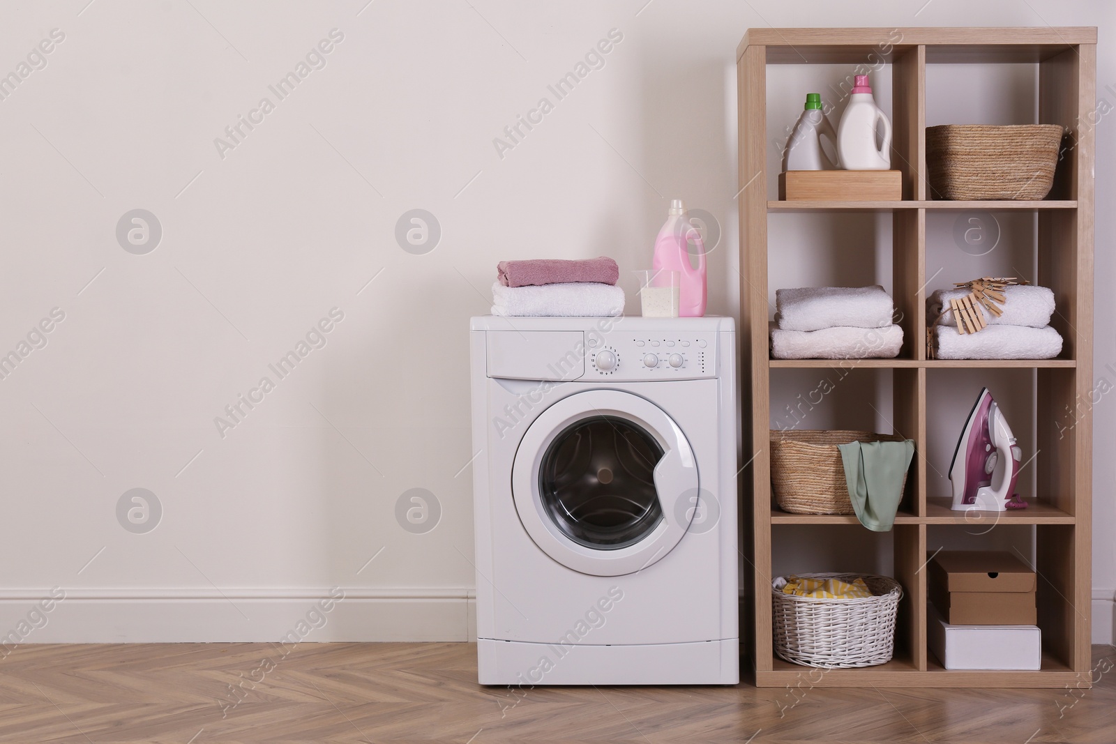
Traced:
[[930, 562], [930, 600], [952, 625], [1032, 626], [1036, 584], [1008, 552], [941, 551]]

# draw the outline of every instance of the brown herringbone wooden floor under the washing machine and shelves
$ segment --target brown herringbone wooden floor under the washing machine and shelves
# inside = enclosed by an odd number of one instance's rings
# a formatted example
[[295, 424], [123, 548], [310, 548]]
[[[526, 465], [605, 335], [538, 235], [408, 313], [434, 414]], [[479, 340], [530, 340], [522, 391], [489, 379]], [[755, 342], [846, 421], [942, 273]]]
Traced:
[[20, 646], [0, 660], [0, 742], [1116, 742], [1110, 646], [1094, 647], [1099, 683], [1074, 693], [808, 683], [513, 693], [477, 684], [475, 654], [472, 644], [302, 644], [286, 657], [262, 644]]

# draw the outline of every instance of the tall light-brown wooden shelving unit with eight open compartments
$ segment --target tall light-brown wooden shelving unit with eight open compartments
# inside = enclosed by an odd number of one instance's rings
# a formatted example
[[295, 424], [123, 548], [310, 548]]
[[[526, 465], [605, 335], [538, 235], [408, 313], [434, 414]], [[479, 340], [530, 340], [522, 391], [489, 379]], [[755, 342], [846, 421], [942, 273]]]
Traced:
[[[1093, 386], [1093, 154], [1090, 114], [1095, 106], [1095, 28], [908, 28], [908, 29], [750, 29], [737, 50], [740, 105], [741, 191], [741, 378], [744, 394], [743, 450], [757, 453], [742, 479], [745, 592], [759, 686], [796, 684], [807, 667], [772, 654], [772, 525], [856, 524], [853, 516], [787, 514], [773, 505], [768, 451], [769, 379], [772, 369], [889, 369], [895, 433], [926, 451], [926, 378], [931, 369], [1030, 368], [1037, 383], [1037, 501], [1020, 512], [999, 514], [1000, 523], [1036, 525], [1039, 576], [1041, 671], [949, 671], [926, 648], [926, 531], [932, 525], [964, 524], [965, 514], [949, 509], [947, 494], [927, 493], [925, 464], [916, 455], [894, 528], [894, 577], [904, 587], [895, 659], [863, 669], [826, 671], [819, 683], [858, 687], [1060, 687], [1088, 684], [1090, 606], [1091, 421], [1085, 407]], [[767, 173], [767, 66], [859, 65], [883, 59], [892, 69], [892, 162], [903, 173], [902, 202], [772, 201]], [[1045, 201], [935, 201], [925, 177], [926, 66], [943, 64], [1037, 64], [1038, 123], [1061, 124], [1072, 146], [1059, 163], [1054, 189]], [[1020, 122], [1026, 124], [1028, 122]], [[1037, 214], [1037, 283], [1050, 287], [1058, 313], [1051, 325], [1065, 346], [1058, 359], [941, 361], [926, 359], [926, 215], [943, 210], [1030, 211]], [[893, 297], [902, 311], [904, 347], [896, 359], [834, 361], [772, 360], [768, 354], [768, 219], [772, 214], [811, 212], [891, 213], [893, 225]], [[793, 219], [780, 216], [778, 219]], [[951, 373], [934, 373], [951, 374]], [[1066, 406], [1077, 425], [1059, 432], [1052, 425]], [[990, 518], [997, 518], [990, 514]], [[847, 529], [847, 528], [846, 528]], [[821, 567], [838, 570], [839, 567]], [[820, 570], [820, 569], [819, 569]], [[747, 646], [745, 646], [747, 647]]]

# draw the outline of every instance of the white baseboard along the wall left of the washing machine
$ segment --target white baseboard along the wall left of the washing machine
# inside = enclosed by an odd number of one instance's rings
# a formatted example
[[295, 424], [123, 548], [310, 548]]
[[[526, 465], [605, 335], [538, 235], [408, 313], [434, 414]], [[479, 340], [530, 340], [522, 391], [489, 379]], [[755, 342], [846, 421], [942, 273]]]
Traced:
[[[15, 642], [475, 640], [473, 589], [0, 591], [0, 657]], [[46, 601], [44, 601], [46, 600]], [[325, 602], [319, 605], [319, 602]], [[44, 608], [49, 607], [49, 610]], [[323, 607], [328, 607], [324, 610]], [[295, 634], [291, 636], [290, 634]], [[12, 636], [11, 634], [15, 634]], [[3, 646], [2, 644], [7, 644]]]

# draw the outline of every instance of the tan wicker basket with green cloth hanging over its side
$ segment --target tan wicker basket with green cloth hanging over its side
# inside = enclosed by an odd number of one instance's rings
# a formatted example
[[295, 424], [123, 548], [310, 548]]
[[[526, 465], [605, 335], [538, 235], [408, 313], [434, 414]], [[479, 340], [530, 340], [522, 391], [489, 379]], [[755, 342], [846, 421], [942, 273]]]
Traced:
[[[872, 432], [771, 431], [771, 486], [779, 509], [793, 514], [854, 514], [838, 444], [903, 442]], [[904, 486], [906, 480], [903, 481]]]

